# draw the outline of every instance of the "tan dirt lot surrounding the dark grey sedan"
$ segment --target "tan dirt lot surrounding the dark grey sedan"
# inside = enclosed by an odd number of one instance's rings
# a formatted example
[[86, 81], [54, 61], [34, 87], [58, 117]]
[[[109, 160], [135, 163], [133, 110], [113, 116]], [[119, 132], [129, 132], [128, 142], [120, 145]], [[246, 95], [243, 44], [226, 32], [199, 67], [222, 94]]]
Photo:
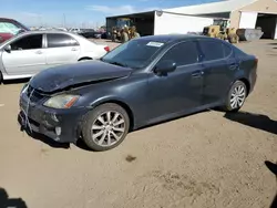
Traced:
[[277, 42], [238, 46], [259, 58], [255, 92], [240, 113], [208, 111], [144, 128], [105, 153], [20, 132], [23, 83], [1, 85], [0, 187], [29, 208], [269, 207], [277, 187], [265, 166], [277, 160]]

